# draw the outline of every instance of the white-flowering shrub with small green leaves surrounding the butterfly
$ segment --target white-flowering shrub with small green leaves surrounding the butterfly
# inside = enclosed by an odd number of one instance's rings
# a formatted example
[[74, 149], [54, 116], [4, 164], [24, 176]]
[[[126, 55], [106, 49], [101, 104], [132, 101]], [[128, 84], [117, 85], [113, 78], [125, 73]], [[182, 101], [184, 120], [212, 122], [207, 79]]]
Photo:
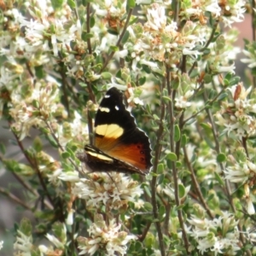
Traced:
[[[256, 80], [236, 76], [232, 28], [253, 7], [0, 1], [0, 116], [25, 158], [0, 143], [0, 167], [26, 201], [0, 192], [35, 218], [15, 224], [15, 255], [255, 255]], [[146, 177], [77, 158], [112, 86], [150, 138]]]

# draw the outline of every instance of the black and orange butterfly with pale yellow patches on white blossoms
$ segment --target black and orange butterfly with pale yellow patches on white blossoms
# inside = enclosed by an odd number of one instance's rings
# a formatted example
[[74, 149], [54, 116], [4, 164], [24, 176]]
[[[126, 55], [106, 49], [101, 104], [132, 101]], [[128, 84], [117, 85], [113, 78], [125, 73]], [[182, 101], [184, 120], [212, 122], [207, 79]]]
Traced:
[[125, 172], [146, 175], [151, 164], [148, 136], [137, 128], [125, 108], [123, 94], [109, 89], [96, 112], [94, 145], [85, 145], [79, 160], [90, 172]]

